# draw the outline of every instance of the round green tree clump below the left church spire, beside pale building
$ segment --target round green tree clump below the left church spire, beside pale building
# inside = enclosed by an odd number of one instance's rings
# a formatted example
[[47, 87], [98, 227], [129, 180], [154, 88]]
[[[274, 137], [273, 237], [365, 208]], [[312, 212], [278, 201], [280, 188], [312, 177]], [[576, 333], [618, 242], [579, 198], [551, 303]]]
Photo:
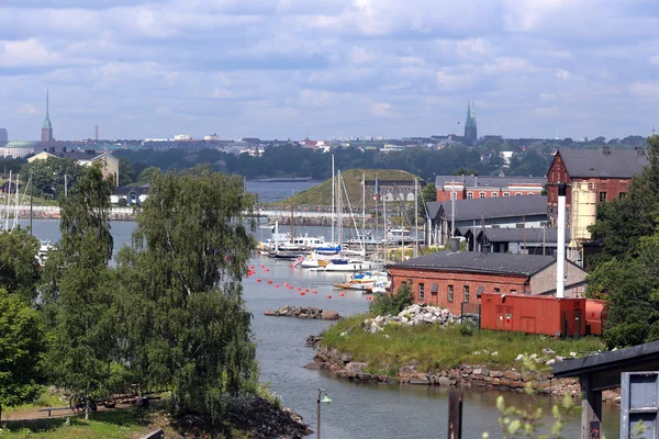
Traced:
[[77, 165], [74, 159], [48, 157], [45, 160], [33, 160], [31, 164], [25, 164], [21, 172], [25, 179], [32, 176], [35, 196], [57, 199], [64, 194], [64, 176], [66, 175], [66, 183], [70, 190], [76, 185], [81, 171], [82, 167]]

